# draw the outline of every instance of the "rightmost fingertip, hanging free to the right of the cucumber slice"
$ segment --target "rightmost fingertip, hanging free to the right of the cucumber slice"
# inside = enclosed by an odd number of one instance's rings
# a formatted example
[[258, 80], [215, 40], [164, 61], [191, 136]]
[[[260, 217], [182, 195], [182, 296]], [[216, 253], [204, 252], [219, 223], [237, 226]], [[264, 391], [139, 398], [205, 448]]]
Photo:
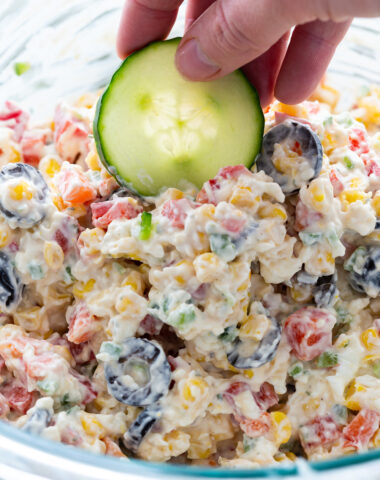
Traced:
[[298, 103], [313, 92], [350, 23], [317, 20], [294, 29], [275, 88], [280, 101]]

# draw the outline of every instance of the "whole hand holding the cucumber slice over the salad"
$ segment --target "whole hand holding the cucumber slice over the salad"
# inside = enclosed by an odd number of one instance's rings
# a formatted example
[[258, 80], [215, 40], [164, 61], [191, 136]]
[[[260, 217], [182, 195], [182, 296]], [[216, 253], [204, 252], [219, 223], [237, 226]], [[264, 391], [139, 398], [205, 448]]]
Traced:
[[[126, 0], [119, 55], [165, 38], [181, 3]], [[189, 0], [176, 63], [198, 81], [243, 67], [263, 106], [274, 96], [298, 103], [317, 86], [352, 18], [377, 15], [380, 0]]]

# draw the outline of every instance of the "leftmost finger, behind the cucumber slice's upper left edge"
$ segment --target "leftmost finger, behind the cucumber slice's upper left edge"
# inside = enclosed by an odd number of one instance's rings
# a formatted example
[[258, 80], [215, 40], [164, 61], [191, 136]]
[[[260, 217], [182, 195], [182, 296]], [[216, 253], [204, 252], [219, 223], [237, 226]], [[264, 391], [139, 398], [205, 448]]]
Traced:
[[172, 29], [183, 0], [126, 0], [117, 35], [121, 58], [155, 40], [163, 40]]

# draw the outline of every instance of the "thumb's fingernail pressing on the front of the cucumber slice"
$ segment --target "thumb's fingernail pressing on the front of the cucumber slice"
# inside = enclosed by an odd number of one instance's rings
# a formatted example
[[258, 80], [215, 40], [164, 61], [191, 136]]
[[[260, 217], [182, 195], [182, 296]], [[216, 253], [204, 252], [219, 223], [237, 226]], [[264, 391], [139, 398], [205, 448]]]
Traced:
[[219, 65], [207, 57], [195, 38], [179, 48], [176, 63], [182, 75], [191, 80], [207, 80], [220, 71]]

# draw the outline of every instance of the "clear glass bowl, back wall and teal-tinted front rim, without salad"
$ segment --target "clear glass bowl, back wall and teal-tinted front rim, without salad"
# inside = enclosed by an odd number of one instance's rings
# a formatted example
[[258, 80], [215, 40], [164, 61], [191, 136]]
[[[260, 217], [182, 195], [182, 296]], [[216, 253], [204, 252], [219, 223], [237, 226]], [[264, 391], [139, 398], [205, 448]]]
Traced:
[[[60, 98], [97, 90], [119, 64], [114, 41], [122, 0], [1, 0], [0, 101], [12, 99], [47, 116]], [[183, 31], [184, 9], [173, 36]], [[22, 76], [15, 62], [29, 62]], [[380, 20], [357, 20], [329, 69], [343, 103], [363, 85], [380, 85]], [[0, 480], [148, 478], [380, 478], [380, 451], [257, 470], [211, 469], [94, 455], [34, 437], [0, 422]]]

